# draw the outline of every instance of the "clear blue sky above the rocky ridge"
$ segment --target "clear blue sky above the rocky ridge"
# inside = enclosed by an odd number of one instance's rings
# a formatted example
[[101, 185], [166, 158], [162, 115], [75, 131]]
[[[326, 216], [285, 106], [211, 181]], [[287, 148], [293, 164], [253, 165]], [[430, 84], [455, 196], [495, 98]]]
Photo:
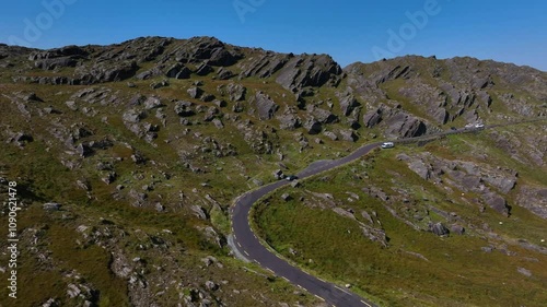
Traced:
[[3, 1], [0, 42], [51, 48], [208, 35], [240, 46], [329, 54], [341, 66], [435, 55], [547, 71], [546, 16], [543, 0], [25, 0]]

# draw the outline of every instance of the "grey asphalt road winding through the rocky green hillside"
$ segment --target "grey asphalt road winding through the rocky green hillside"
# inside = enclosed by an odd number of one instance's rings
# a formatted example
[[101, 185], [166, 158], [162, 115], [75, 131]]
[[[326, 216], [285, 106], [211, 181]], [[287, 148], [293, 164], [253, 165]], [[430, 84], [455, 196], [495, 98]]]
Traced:
[[[531, 120], [533, 121], [533, 120]], [[476, 132], [478, 130], [494, 128], [499, 126], [517, 125], [522, 122], [513, 122], [505, 125], [489, 126], [481, 129], [458, 129], [455, 131], [440, 132], [435, 134], [429, 134], [424, 137], [410, 138], [397, 140], [395, 143], [406, 143], [415, 142], [421, 140], [435, 139], [442, 135], [455, 134], [455, 133], [467, 133]], [[296, 176], [300, 179], [319, 174], [325, 170], [333, 169], [335, 167], [345, 165], [349, 162], [356, 161], [359, 157], [365, 155], [373, 149], [380, 146], [381, 143], [372, 143], [363, 145], [352, 152], [351, 154], [334, 161], [319, 161], [312, 163], [307, 168], [299, 173]], [[337, 307], [371, 307], [376, 306], [373, 303], [358, 296], [357, 294], [339, 287], [335, 284], [323, 281], [318, 278], [312, 276], [301, 269], [288, 263], [287, 261], [279, 258], [277, 255], [269, 251], [265, 246], [260, 244], [260, 240], [256, 237], [251, 228], [251, 223], [248, 215], [253, 204], [261, 197], [272, 192], [274, 190], [290, 185], [287, 180], [279, 180], [271, 182], [269, 185], [263, 186], [254, 191], [249, 191], [241, 197], [238, 197], [233, 206], [230, 209], [231, 222], [233, 227], [233, 246], [236, 248], [236, 252], [244, 256], [251, 261], [255, 261], [260, 267], [268, 271], [274, 272], [276, 275], [281, 276], [292, 284], [295, 284], [309, 293], [314, 294], [316, 297], [325, 300], [327, 304]]]

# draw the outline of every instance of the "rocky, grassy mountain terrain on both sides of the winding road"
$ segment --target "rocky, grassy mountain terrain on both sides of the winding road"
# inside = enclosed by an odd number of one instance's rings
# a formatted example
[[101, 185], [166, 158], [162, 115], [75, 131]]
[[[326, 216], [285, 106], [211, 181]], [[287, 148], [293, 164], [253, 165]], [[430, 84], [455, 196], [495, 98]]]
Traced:
[[[514, 305], [545, 302], [526, 295], [547, 278], [544, 72], [412, 56], [341, 68], [212, 37], [0, 45], [0, 182], [21, 191], [23, 306], [323, 307], [232, 257], [233, 199], [365, 143], [479, 123], [496, 128], [293, 182], [257, 203], [255, 222], [286, 258], [374, 303], [502, 306], [481, 295], [492, 288], [524, 297]], [[467, 250], [479, 274], [462, 269]]]

